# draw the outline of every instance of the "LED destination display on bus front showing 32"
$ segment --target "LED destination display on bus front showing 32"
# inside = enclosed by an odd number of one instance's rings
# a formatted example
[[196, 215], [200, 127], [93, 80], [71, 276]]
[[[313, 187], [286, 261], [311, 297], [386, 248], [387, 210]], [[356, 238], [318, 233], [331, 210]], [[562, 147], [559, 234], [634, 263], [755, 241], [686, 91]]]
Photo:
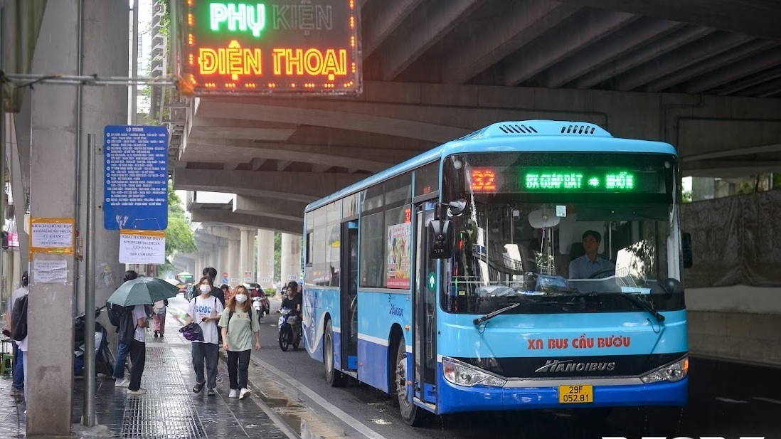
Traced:
[[655, 170], [466, 167], [475, 192], [664, 193]]

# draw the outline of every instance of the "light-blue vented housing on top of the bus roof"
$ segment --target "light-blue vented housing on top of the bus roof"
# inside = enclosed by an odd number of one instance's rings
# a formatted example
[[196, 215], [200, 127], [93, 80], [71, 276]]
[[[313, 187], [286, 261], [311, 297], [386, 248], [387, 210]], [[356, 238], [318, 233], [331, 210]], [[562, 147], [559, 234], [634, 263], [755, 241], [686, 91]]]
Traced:
[[520, 120], [494, 123], [463, 137], [465, 140], [506, 136], [560, 136], [578, 135], [612, 137], [602, 127], [587, 122], [563, 120]]

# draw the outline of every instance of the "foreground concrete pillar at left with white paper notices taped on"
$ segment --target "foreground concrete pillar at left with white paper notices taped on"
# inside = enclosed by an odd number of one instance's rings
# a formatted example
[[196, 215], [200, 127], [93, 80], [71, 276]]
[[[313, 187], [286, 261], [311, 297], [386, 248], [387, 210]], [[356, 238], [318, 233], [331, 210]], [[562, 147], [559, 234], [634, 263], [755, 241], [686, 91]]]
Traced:
[[[47, 5], [33, 73], [78, 73], [78, 18], [77, 2]], [[74, 219], [76, 172], [63, 163], [76, 162], [77, 87], [39, 84], [30, 96], [30, 216]], [[27, 377], [35, 378], [27, 380], [27, 436], [62, 434], [70, 431], [73, 394], [73, 257], [35, 253], [32, 258], [33, 266], [65, 260], [68, 267], [65, 284], [39, 284], [30, 270], [25, 359]]]

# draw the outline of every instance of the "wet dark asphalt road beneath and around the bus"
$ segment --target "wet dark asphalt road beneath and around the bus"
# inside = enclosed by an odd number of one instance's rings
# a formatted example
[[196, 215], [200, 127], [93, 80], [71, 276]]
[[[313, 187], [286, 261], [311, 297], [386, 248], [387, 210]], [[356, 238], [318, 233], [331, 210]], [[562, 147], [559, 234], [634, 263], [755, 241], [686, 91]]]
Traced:
[[[278, 308], [272, 302], [272, 309]], [[282, 352], [276, 344], [276, 318], [264, 318], [262, 351], [256, 370], [265, 373], [274, 405], [298, 407], [287, 416], [302, 437], [437, 438], [599, 438], [767, 437], [781, 439], [781, 369], [692, 359], [689, 404], [683, 409], [615, 409], [595, 422], [587, 412], [469, 413], [437, 418], [431, 427], [408, 427], [387, 394], [351, 381], [326, 384], [323, 364], [302, 350]], [[265, 384], [264, 384], [265, 385]], [[287, 402], [280, 404], [280, 401]], [[284, 409], [280, 409], [283, 410]], [[283, 413], [285, 414], [285, 413]], [[303, 419], [303, 421], [301, 421]], [[299, 425], [303, 422], [305, 425]], [[313, 423], [322, 429], [309, 428]], [[490, 436], [489, 436], [490, 435]]]

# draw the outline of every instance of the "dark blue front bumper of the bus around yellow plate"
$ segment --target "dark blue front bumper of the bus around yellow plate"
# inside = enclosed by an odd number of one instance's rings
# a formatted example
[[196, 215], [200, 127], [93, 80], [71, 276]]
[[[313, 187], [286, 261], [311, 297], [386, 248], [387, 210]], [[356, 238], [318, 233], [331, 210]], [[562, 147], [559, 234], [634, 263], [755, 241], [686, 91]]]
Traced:
[[[683, 380], [652, 384], [600, 385], [598, 380], [572, 385], [594, 386], [594, 402], [562, 404], [558, 400], [558, 385], [551, 387], [463, 387], [440, 377], [437, 414], [453, 412], [526, 410], [526, 409], [588, 409], [596, 407], [686, 405], [689, 377]], [[540, 383], [542, 384], [542, 383]]]

